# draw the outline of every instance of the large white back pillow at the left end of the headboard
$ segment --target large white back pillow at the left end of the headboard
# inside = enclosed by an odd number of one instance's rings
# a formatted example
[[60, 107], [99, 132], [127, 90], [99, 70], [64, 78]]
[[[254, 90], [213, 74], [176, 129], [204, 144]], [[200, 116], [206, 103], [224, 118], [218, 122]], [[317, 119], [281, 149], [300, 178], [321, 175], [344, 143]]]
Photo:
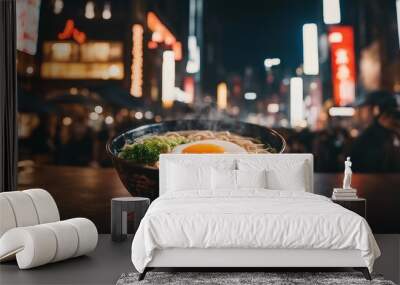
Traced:
[[211, 167], [168, 164], [167, 191], [211, 190]]

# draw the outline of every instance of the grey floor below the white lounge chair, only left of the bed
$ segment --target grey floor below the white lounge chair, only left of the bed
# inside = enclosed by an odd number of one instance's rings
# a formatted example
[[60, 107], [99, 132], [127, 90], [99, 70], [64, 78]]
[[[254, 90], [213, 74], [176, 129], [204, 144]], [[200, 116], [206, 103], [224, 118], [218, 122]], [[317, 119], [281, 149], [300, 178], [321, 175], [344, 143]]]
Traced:
[[100, 235], [94, 252], [41, 267], [19, 270], [15, 261], [0, 264], [1, 285], [115, 284], [122, 273], [134, 271], [132, 237], [124, 242]]

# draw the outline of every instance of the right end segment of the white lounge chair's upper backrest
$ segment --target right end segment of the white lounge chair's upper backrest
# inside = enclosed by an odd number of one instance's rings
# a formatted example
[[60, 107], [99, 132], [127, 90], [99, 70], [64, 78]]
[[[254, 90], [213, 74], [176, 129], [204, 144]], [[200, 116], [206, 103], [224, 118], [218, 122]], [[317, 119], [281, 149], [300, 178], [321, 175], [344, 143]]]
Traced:
[[57, 222], [60, 214], [56, 202], [49, 192], [43, 189], [29, 189], [22, 191], [30, 196], [36, 208], [39, 224]]

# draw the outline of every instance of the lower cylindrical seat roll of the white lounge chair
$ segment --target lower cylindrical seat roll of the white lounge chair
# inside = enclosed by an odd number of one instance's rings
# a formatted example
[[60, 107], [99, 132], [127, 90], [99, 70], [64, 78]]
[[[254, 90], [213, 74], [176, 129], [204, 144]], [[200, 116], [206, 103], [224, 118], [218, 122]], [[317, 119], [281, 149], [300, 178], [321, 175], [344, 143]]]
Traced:
[[0, 261], [14, 255], [20, 269], [28, 269], [86, 254], [96, 248], [95, 225], [84, 218], [18, 227], [0, 238]]

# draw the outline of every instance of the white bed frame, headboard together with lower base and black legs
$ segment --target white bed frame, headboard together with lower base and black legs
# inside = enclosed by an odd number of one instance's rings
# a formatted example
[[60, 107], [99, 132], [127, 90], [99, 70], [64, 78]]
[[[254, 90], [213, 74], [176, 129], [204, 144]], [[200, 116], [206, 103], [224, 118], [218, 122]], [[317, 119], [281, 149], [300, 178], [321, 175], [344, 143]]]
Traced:
[[[250, 155], [251, 156], [251, 155]], [[262, 159], [290, 159], [305, 162], [306, 191], [313, 192], [313, 156], [311, 154], [266, 154], [256, 155]], [[205, 160], [240, 159], [249, 155], [161, 155], [160, 157], [160, 195], [163, 194], [167, 173], [167, 161], [190, 159]], [[343, 268], [350, 267], [361, 271], [367, 280], [371, 275], [359, 250], [331, 250], [331, 249], [253, 249], [253, 248], [169, 248], [158, 249], [153, 259], [147, 265], [139, 280], [143, 280], [146, 273], [155, 268], [203, 268], [217, 269], [230, 268], [236, 271], [250, 271], [266, 268]]]

